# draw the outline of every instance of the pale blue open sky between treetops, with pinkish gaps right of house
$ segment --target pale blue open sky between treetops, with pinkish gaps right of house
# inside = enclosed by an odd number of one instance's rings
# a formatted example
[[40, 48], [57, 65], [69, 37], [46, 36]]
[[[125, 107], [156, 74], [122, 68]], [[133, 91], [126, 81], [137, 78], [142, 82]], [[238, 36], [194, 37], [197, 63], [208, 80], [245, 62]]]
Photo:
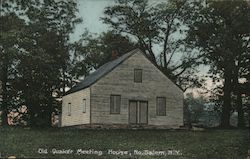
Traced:
[[[155, 4], [164, 0], [149, 0], [149, 3]], [[90, 33], [100, 34], [109, 29], [109, 26], [102, 23], [100, 17], [103, 17], [105, 7], [115, 4], [115, 0], [77, 0], [79, 13], [78, 16], [82, 18], [83, 22], [78, 24], [74, 33], [71, 35], [71, 41], [76, 41], [87, 29]], [[199, 74], [205, 75], [208, 68], [200, 67]], [[207, 88], [211, 89], [213, 83], [211, 79], [206, 81]], [[200, 94], [201, 89], [190, 89], [188, 92], [193, 92], [195, 96]]]

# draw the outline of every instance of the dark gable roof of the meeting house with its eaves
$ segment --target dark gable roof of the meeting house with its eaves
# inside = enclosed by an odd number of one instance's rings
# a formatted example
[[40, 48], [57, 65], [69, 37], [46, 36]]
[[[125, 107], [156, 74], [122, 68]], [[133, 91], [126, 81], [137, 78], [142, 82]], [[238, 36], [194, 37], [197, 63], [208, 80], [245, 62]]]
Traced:
[[[102, 65], [101, 67], [99, 67], [95, 72], [91, 73], [89, 76], [87, 76], [84, 80], [82, 80], [81, 82], [79, 82], [76, 86], [74, 86], [73, 88], [71, 88], [69, 91], [67, 91], [64, 95], [68, 95], [77, 91], [80, 91], [84, 88], [87, 88], [89, 86], [91, 86], [92, 84], [94, 84], [96, 81], [98, 81], [100, 78], [102, 78], [104, 75], [106, 75], [107, 73], [109, 73], [110, 71], [112, 71], [114, 68], [116, 68], [119, 64], [121, 64], [123, 61], [125, 61], [126, 59], [128, 59], [130, 56], [132, 56], [133, 54], [137, 53], [137, 52], [142, 52], [140, 49], [135, 49], [132, 50], [124, 55], [122, 55], [121, 57], [110, 61], [104, 65]], [[144, 53], [142, 53], [144, 55]], [[144, 55], [146, 57], [146, 55]], [[147, 57], [146, 57], [147, 58]], [[148, 58], [147, 58], [148, 59]], [[149, 60], [149, 59], [148, 59]], [[159, 69], [159, 67], [157, 65], [155, 65], [151, 60], [149, 60], [157, 69]], [[160, 70], [160, 69], [159, 69]], [[160, 70], [161, 71], [161, 70]], [[162, 71], [161, 71], [162, 72]], [[162, 72], [163, 73], [163, 72]], [[165, 73], [163, 73], [165, 76], [167, 76]], [[171, 79], [169, 79], [170, 81], [172, 81]], [[173, 82], [174, 83], [174, 82]], [[176, 83], [174, 83], [179, 89], [182, 90], [182, 88], [180, 86], [178, 86]], [[183, 90], [182, 90], [183, 91]]]

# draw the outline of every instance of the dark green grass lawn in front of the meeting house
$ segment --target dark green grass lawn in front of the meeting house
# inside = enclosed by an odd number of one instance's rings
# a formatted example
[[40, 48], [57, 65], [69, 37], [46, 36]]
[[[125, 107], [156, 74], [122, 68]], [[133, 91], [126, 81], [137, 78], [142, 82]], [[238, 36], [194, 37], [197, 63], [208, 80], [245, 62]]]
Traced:
[[[17, 158], [235, 158], [246, 159], [250, 149], [248, 130], [79, 130], [69, 128], [0, 127], [1, 157]], [[40, 148], [40, 149], [39, 149]], [[43, 151], [41, 151], [43, 149]], [[41, 153], [48, 154], [39, 154]], [[73, 150], [71, 155], [54, 150]], [[101, 151], [98, 156], [77, 155], [78, 149]], [[127, 155], [108, 154], [108, 150], [128, 151]], [[138, 150], [136, 153], [134, 150]], [[168, 154], [139, 155], [144, 150], [172, 151]], [[59, 151], [57, 151], [59, 153]], [[83, 151], [82, 151], [83, 152]], [[65, 151], [63, 152], [65, 153]], [[93, 152], [94, 153], [94, 152]], [[117, 152], [118, 153], [118, 152]], [[131, 155], [131, 156], [130, 156]]]

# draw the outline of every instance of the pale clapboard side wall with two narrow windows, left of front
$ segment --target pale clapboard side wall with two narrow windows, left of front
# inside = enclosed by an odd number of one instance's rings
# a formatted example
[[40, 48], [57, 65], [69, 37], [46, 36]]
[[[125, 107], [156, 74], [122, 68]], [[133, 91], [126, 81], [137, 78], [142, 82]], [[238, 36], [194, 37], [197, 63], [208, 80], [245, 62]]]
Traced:
[[[83, 113], [83, 99], [86, 99], [86, 112]], [[68, 94], [62, 99], [61, 126], [90, 123], [90, 88]], [[71, 115], [68, 115], [68, 103], [71, 103]]]

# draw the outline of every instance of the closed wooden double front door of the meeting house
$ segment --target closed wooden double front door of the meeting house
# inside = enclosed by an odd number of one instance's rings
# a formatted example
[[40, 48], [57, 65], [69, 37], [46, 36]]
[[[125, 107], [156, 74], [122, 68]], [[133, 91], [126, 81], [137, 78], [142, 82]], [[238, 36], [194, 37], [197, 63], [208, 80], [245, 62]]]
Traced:
[[129, 101], [129, 123], [147, 124], [148, 123], [148, 102]]

